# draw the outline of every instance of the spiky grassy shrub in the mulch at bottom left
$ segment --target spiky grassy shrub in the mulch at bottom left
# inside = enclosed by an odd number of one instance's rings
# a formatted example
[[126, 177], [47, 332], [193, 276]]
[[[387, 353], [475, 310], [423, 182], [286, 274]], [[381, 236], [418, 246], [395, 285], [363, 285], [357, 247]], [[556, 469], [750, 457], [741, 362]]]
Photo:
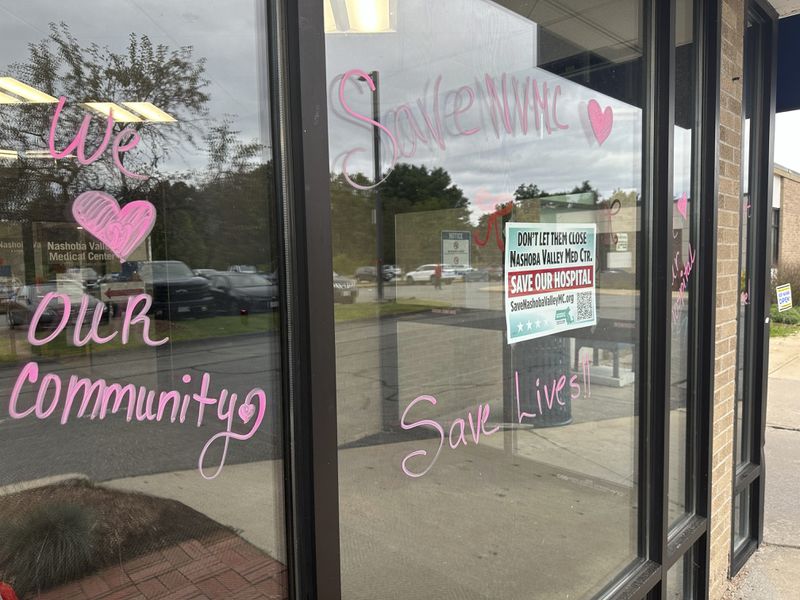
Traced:
[[46, 504], [0, 532], [0, 578], [19, 596], [73, 581], [95, 568], [91, 512], [77, 504]]

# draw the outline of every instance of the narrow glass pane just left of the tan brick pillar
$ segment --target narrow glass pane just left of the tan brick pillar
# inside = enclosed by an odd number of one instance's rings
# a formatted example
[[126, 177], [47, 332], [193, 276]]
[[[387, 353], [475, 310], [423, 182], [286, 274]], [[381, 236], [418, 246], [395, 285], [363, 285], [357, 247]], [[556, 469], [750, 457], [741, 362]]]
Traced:
[[670, 444], [669, 444], [669, 516], [674, 523], [692, 511], [691, 490], [691, 397], [689, 365], [690, 307], [693, 304], [693, 270], [696, 241], [692, 239], [694, 214], [692, 199], [693, 152], [695, 132], [695, 51], [694, 5], [692, 0], [676, 4], [675, 48], [675, 125], [673, 128], [673, 193], [671, 356], [670, 356]]

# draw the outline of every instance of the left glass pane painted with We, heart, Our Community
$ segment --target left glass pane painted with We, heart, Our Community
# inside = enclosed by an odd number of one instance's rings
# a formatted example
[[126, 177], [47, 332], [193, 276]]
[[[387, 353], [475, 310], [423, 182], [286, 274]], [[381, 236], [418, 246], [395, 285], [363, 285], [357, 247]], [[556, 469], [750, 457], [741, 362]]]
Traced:
[[20, 598], [285, 597], [264, 4], [0, 0]]

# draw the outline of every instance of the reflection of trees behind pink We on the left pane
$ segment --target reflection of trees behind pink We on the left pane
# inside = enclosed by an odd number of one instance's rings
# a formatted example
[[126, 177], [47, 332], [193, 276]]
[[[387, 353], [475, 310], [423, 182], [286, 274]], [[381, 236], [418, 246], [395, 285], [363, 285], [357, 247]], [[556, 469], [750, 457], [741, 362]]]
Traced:
[[[55, 105], [0, 106], [0, 148], [19, 153], [18, 160], [0, 171], [4, 199], [0, 218], [21, 228], [27, 281], [65, 267], [36, 264], [33, 224], [65, 223], [57, 235], [65, 241], [78, 239], [70, 206], [86, 190], [105, 191], [120, 206], [141, 199], [156, 206], [154, 259], [182, 260], [192, 267], [271, 266], [272, 165], [264, 164], [261, 144], [243, 141], [233, 129], [234, 116], [218, 119], [209, 114], [206, 60], [196, 56], [192, 46], [175, 49], [131, 33], [124, 51], [115, 52], [81, 43], [65, 23], [51, 24], [45, 39], [29, 45], [27, 60], [9, 65], [6, 74], [67, 98], [58, 122], [57, 149], [78, 131], [89, 112], [82, 106], [85, 102], [150, 102], [176, 119], [114, 123], [112, 138], [126, 128], [141, 136], [141, 143], [122, 157], [127, 170], [146, 176], [134, 179], [121, 173], [110, 152], [91, 165], [74, 157], [43, 157]], [[87, 154], [101, 143], [104, 130], [105, 119], [96, 115], [87, 136]], [[203, 156], [208, 160], [199, 158]], [[180, 163], [187, 168], [179, 173], [175, 165]], [[42, 256], [46, 261], [47, 254]], [[119, 270], [114, 263], [95, 267], [101, 274]]]

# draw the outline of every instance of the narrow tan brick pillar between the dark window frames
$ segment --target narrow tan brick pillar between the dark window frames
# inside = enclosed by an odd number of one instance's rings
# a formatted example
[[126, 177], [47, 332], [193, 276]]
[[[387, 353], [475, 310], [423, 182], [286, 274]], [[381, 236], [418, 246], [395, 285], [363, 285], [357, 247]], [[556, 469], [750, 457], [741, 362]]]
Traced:
[[727, 586], [731, 546], [744, 11], [744, 0], [722, 1], [717, 321], [709, 564], [709, 597], [712, 600], [721, 598]]

